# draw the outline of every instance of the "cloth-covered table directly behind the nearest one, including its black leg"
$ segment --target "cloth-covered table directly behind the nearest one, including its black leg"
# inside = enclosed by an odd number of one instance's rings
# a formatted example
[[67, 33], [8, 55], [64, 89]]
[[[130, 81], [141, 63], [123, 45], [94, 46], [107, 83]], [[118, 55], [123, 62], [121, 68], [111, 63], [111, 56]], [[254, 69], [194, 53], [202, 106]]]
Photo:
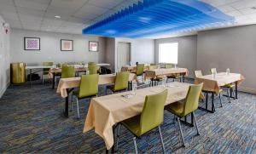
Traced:
[[[116, 74], [99, 75], [98, 85], [114, 83], [115, 77]], [[64, 111], [65, 117], [68, 117], [68, 95], [73, 91], [74, 88], [79, 88], [80, 81], [81, 77], [68, 77], [60, 79], [56, 93], [61, 94], [61, 97], [66, 99]], [[130, 73], [129, 76], [129, 83], [131, 83], [132, 81], [137, 81], [137, 76], [134, 73]]]

